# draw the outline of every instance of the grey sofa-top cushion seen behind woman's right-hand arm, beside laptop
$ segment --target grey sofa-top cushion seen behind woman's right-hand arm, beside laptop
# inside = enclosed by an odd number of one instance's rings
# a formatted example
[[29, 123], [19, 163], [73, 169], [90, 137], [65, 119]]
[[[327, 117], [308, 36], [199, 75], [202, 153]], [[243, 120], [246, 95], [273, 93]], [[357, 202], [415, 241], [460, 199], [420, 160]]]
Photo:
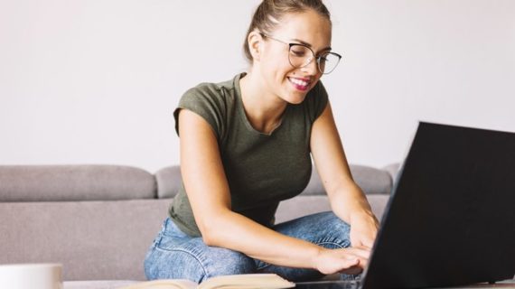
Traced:
[[[392, 188], [392, 179], [389, 172], [372, 168], [370, 166], [351, 164], [351, 174], [354, 182], [360, 186], [365, 194], [389, 194]], [[320, 176], [315, 169], [311, 172], [311, 180], [302, 192], [304, 195], [324, 195]]]

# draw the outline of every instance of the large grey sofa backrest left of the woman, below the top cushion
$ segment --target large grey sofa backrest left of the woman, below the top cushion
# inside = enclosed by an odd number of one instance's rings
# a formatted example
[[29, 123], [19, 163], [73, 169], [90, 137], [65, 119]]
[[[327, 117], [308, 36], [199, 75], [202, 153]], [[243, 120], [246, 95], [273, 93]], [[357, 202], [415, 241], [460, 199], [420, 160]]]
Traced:
[[0, 203], [0, 264], [61, 263], [64, 280], [145, 280], [171, 200]]

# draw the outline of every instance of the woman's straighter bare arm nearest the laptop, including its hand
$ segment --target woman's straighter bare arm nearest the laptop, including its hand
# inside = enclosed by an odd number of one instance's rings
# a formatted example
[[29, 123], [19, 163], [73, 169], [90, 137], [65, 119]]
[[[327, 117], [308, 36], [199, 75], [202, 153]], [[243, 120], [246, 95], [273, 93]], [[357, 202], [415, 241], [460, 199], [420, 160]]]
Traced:
[[352, 180], [330, 104], [314, 122], [311, 150], [332, 211], [351, 225], [352, 246], [371, 247], [379, 224], [364, 193]]

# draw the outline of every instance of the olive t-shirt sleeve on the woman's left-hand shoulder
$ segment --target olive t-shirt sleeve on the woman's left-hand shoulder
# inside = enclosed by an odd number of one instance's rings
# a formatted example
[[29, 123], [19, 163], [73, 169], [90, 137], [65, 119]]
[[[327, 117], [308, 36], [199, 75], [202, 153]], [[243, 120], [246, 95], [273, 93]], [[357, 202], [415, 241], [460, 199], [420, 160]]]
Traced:
[[173, 111], [175, 132], [179, 135], [179, 112], [188, 109], [205, 119], [220, 140], [224, 115], [223, 101], [220, 99], [220, 89], [215, 85], [204, 84], [189, 89], [179, 100], [179, 105]]

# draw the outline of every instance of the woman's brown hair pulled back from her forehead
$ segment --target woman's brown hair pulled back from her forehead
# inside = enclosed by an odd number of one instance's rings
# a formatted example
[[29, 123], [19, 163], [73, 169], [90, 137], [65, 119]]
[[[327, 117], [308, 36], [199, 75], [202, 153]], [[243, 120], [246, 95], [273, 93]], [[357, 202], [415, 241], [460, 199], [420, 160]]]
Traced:
[[261, 33], [271, 33], [276, 25], [286, 14], [303, 13], [308, 9], [321, 14], [331, 22], [331, 14], [327, 7], [323, 5], [322, 0], [263, 0], [257, 6], [256, 12], [252, 17], [252, 22], [248, 26], [245, 42], [243, 42], [243, 52], [245, 58], [251, 63], [252, 54], [248, 49], [248, 34], [253, 31]]

